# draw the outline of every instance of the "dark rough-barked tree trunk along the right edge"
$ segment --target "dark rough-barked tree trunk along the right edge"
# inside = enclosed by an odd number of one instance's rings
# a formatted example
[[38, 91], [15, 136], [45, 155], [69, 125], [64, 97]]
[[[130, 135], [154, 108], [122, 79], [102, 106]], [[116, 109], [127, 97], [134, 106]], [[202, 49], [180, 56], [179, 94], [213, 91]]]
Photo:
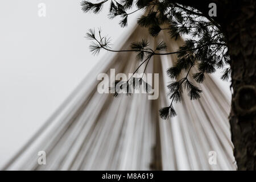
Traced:
[[[230, 1], [232, 3], [232, 1]], [[256, 169], [255, 1], [233, 4], [222, 24], [231, 58], [230, 126], [238, 170]]]

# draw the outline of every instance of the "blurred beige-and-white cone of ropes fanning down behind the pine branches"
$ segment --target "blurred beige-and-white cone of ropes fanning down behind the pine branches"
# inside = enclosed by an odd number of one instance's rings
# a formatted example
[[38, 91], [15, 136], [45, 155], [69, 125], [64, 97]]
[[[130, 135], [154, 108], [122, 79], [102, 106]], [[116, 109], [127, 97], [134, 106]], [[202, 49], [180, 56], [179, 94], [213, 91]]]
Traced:
[[[152, 38], [147, 29], [135, 27], [121, 49], [147, 39], [154, 46], [170, 40], [164, 32]], [[179, 49], [183, 39], [166, 42], [168, 51]], [[112, 53], [67, 98], [60, 108], [3, 169], [25, 170], [233, 170], [236, 169], [228, 115], [230, 101], [206, 76], [203, 84], [193, 82], [203, 93], [191, 101], [175, 104], [177, 116], [162, 120], [159, 109], [170, 105], [166, 69], [175, 64], [176, 55], [153, 56], [146, 73], [159, 73], [159, 97], [147, 94], [97, 92], [99, 73], [133, 73], [138, 67], [134, 52]], [[143, 72], [144, 68], [139, 69]], [[188, 78], [196, 73], [192, 68]], [[154, 87], [154, 85], [153, 85]], [[46, 151], [46, 165], [38, 164], [38, 151]], [[209, 163], [215, 151], [217, 163]]]

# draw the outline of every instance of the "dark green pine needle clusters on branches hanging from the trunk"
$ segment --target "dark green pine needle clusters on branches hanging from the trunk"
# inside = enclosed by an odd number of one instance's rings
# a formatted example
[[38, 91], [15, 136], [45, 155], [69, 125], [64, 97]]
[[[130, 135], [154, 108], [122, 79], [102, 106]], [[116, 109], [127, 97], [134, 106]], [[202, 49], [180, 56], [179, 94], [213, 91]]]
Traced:
[[[138, 40], [131, 44], [128, 50], [113, 50], [111, 48], [110, 40], [101, 36], [101, 31], [96, 32], [89, 30], [86, 37], [93, 40], [90, 45], [90, 51], [93, 54], [100, 52], [101, 49], [107, 51], [134, 51], [137, 52], [137, 59], [142, 64], [148, 64], [150, 58], [154, 55], [177, 55], [177, 62], [171, 68], [167, 69], [167, 76], [171, 81], [168, 84], [168, 96], [170, 97], [170, 106], [163, 107], [159, 110], [162, 119], [175, 117], [174, 102], [181, 102], [181, 94], [187, 90], [188, 97], [191, 100], [200, 98], [201, 90], [199, 87], [192, 84], [189, 80], [188, 74], [192, 67], [197, 68], [197, 73], [192, 76], [196, 82], [204, 81], [205, 74], [214, 73], [216, 69], [224, 69], [222, 80], [228, 80], [231, 69], [229, 67], [230, 58], [228, 55], [228, 48], [226, 46], [225, 37], [221, 32], [219, 24], [214, 22], [208, 15], [193, 9], [192, 7], [180, 5], [171, 0], [156, 1], [156, 0], [128, 0], [128, 1], [82, 1], [82, 10], [87, 12], [99, 13], [104, 5], [109, 6], [109, 18], [119, 17], [119, 25], [121, 27], [127, 26], [127, 19], [130, 14], [138, 10], [146, 10], [146, 15], [138, 18], [138, 24], [142, 27], [147, 27], [151, 36], [158, 36], [160, 31], [167, 31], [170, 39], [179, 39], [180, 36], [188, 37], [185, 44], [179, 48], [177, 52], [166, 52], [166, 43], [160, 42], [156, 48], [151, 48], [147, 40]], [[133, 9], [133, 11], [131, 10]], [[135, 9], [135, 10], [134, 10]], [[168, 42], [168, 40], [166, 40]], [[228, 68], [227, 68], [228, 67]], [[146, 69], [146, 68], [145, 68]], [[135, 72], [138, 71], [138, 68]], [[134, 73], [135, 73], [134, 72]], [[181, 73], [185, 77], [180, 78]], [[130, 80], [130, 79], [129, 79]], [[129, 87], [129, 80], [126, 81], [126, 86]], [[118, 84], [118, 82], [116, 82]], [[116, 85], [115, 84], [115, 85]], [[132, 86], [134, 89], [137, 86]], [[145, 84], [146, 85], [146, 84]], [[117, 96], [115, 94], [114, 96]]]

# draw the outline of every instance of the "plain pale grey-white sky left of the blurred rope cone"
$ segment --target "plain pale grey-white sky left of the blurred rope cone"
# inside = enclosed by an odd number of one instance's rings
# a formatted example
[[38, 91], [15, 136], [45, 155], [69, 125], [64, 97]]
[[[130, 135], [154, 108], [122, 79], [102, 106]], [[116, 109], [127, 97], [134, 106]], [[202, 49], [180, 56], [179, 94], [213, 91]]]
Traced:
[[[44, 18], [38, 16], [42, 2]], [[80, 2], [0, 1], [0, 167], [104, 56], [89, 52], [88, 28], [101, 27], [113, 43], [120, 42], [138, 17], [121, 28], [119, 18], [110, 20], [107, 13], [82, 13]]]

